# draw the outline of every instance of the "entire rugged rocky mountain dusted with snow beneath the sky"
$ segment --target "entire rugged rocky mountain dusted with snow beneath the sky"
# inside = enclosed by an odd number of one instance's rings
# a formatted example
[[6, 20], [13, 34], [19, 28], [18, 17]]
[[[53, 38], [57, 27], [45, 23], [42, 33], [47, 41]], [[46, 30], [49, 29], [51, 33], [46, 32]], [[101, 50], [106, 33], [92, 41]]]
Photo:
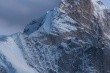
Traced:
[[24, 33], [0, 37], [0, 73], [110, 73], [110, 10], [62, 0]]

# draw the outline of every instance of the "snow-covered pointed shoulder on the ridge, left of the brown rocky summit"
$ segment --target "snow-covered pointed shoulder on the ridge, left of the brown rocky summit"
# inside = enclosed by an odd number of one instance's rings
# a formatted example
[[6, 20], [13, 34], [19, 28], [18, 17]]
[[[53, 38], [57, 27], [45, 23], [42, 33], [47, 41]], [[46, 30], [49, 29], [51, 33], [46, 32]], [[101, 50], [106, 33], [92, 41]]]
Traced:
[[42, 26], [31, 36], [38, 37], [42, 35], [41, 33], [57, 35], [57, 33], [77, 31], [77, 22], [58, 7], [48, 11], [43, 22]]

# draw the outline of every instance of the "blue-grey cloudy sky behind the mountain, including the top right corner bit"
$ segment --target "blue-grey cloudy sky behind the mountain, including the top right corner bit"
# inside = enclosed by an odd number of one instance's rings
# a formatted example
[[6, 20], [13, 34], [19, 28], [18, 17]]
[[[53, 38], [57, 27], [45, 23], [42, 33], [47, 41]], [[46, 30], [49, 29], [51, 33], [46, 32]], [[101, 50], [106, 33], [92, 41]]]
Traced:
[[[102, 0], [110, 8], [110, 0]], [[27, 23], [53, 9], [60, 0], [0, 0], [0, 35], [22, 31]]]

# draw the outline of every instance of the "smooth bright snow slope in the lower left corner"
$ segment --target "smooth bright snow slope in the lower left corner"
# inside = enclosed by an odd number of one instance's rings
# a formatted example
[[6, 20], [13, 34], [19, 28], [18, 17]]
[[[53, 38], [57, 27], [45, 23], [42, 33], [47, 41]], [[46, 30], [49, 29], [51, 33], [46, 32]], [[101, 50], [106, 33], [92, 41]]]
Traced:
[[17, 70], [17, 73], [37, 73], [33, 68], [27, 65], [20, 48], [18, 48], [13, 38], [9, 37], [7, 41], [0, 42], [0, 52]]

